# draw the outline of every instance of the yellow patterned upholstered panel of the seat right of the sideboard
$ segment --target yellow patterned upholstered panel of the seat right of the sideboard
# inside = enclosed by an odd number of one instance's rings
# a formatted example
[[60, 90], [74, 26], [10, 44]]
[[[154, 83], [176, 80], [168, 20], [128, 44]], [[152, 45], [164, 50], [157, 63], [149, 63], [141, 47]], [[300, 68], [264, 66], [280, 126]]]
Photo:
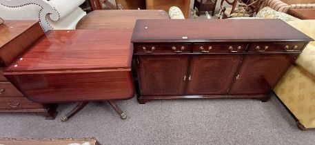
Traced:
[[299, 66], [291, 66], [274, 93], [306, 128], [315, 128], [315, 77]]

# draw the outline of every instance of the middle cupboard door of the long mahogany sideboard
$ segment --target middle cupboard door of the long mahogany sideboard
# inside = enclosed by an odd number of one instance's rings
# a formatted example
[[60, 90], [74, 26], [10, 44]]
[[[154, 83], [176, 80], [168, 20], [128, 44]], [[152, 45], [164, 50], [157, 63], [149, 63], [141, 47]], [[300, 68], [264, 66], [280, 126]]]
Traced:
[[242, 55], [194, 55], [187, 95], [222, 95], [234, 78]]

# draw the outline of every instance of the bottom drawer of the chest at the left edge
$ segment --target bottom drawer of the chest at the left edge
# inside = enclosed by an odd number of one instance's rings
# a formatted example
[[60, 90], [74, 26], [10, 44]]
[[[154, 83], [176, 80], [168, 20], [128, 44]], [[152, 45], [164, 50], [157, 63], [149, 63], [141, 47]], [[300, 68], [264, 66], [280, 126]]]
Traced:
[[26, 97], [0, 97], [0, 110], [19, 110], [34, 108], [43, 108], [43, 105], [31, 101]]

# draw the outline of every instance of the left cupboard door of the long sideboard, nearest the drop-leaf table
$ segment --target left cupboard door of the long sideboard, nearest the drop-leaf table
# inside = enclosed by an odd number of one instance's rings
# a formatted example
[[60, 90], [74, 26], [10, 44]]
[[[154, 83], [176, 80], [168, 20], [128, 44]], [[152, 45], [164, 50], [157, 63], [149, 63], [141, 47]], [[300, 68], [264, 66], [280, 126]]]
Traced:
[[141, 95], [183, 95], [187, 55], [139, 55]]

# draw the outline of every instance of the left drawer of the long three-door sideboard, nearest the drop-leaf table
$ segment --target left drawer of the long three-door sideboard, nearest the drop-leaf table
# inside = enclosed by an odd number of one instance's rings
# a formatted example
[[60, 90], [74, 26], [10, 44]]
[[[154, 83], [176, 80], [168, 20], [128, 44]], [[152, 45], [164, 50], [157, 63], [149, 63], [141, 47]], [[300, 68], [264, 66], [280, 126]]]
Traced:
[[136, 52], [191, 52], [192, 45], [189, 43], [165, 43], [165, 44], [139, 44]]

